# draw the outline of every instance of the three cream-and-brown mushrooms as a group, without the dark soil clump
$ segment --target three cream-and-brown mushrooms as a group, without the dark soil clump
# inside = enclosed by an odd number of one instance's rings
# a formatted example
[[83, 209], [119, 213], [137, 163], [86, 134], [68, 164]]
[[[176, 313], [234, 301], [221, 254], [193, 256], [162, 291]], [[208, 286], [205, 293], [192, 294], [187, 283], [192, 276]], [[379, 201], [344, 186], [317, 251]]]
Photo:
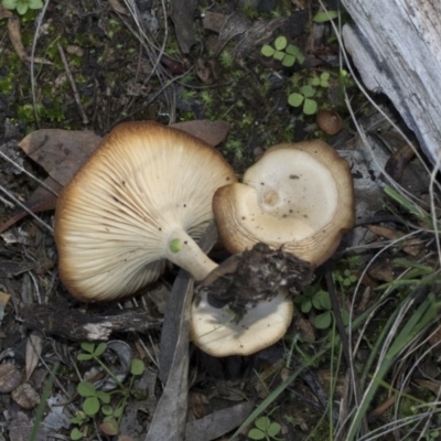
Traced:
[[[133, 294], [168, 261], [201, 281], [217, 268], [197, 246], [213, 216], [230, 252], [265, 243], [318, 266], [353, 226], [348, 165], [322, 141], [287, 143], [270, 148], [238, 183], [202, 140], [155, 122], [121, 123], [60, 195], [61, 279], [83, 301]], [[247, 355], [279, 340], [291, 318], [283, 289], [239, 323], [201, 297], [192, 340], [212, 355]]]

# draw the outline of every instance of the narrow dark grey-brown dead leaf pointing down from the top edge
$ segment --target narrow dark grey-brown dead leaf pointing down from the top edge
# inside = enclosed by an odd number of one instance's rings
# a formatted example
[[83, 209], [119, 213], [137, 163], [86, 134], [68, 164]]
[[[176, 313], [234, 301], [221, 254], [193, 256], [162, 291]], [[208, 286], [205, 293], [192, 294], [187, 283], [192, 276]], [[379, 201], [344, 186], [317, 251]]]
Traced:
[[174, 31], [181, 51], [187, 54], [196, 42], [193, 20], [197, 7], [197, 0], [171, 0], [170, 18], [174, 24]]

